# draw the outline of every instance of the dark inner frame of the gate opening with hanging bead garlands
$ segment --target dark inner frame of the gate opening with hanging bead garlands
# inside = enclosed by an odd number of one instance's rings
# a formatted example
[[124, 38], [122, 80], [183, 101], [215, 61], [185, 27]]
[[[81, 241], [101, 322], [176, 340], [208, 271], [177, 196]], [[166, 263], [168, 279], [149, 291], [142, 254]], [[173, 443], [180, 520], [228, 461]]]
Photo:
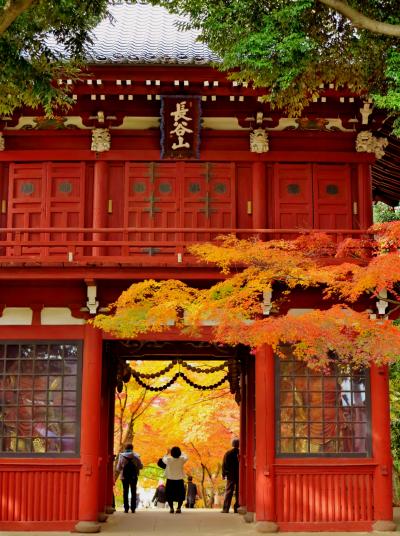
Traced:
[[[168, 361], [169, 364], [157, 374], [142, 374], [130, 366], [132, 361]], [[193, 381], [192, 373], [199, 371], [193, 362], [210, 362], [211, 371], [220, 370], [222, 381], [210, 384], [204, 380]], [[212, 362], [222, 364], [213, 367]], [[225, 372], [225, 374], [224, 374]], [[168, 378], [165, 378], [168, 374]], [[164, 382], [157, 381], [163, 376]], [[239, 405], [240, 412], [240, 503], [246, 504], [247, 509], [254, 511], [254, 448], [255, 448], [255, 396], [254, 396], [254, 356], [244, 346], [230, 347], [205, 341], [107, 341], [103, 347], [103, 382], [102, 407], [107, 410], [102, 413], [101, 425], [101, 458], [106, 461], [100, 469], [99, 496], [104, 511], [113, 511], [114, 484], [114, 393], [115, 389], [122, 391], [124, 382], [136, 381], [150, 391], [162, 391], [180, 380], [201, 391], [218, 388], [225, 384], [229, 386], [232, 396]], [[157, 381], [157, 386], [154, 382]], [[251, 385], [251, 382], [252, 385]], [[250, 387], [250, 388], [249, 388]], [[106, 483], [106, 485], [104, 485]]]

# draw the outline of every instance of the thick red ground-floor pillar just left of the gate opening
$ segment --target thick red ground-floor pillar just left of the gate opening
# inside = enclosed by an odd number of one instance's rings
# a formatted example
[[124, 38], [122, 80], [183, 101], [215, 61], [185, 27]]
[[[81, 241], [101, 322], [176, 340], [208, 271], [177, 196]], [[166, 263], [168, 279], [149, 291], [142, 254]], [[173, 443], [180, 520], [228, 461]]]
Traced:
[[81, 475], [78, 532], [99, 532], [99, 457], [101, 405], [101, 331], [85, 326], [82, 370]]

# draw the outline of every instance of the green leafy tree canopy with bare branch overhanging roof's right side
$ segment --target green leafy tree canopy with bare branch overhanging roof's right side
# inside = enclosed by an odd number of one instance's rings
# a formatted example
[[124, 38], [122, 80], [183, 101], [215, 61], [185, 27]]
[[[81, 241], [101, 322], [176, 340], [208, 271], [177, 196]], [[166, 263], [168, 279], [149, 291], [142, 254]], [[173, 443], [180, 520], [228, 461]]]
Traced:
[[[400, 11], [397, 0], [151, 0], [186, 14], [185, 27], [234, 70], [267, 87], [267, 99], [301, 113], [321, 84], [373, 97], [400, 112]], [[399, 130], [400, 132], [400, 130]]]

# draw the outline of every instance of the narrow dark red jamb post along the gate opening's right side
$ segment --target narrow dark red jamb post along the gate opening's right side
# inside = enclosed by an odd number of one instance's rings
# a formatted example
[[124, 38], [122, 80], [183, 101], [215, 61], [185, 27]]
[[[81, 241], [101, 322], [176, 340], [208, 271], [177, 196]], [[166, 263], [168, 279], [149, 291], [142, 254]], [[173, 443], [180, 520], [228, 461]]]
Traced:
[[247, 456], [246, 456], [246, 481], [247, 481], [247, 511], [255, 512], [255, 363], [249, 361], [247, 374]]

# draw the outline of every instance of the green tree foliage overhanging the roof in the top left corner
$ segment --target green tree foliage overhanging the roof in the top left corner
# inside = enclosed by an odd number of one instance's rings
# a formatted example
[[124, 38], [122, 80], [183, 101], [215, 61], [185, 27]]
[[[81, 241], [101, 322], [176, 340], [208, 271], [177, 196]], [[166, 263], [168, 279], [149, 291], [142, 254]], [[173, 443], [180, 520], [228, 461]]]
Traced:
[[108, 0], [0, 0], [0, 114], [42, 106], [50, 115], [68, 107], [68, 87], [79, 77], [90, 31], [105, 16]]

